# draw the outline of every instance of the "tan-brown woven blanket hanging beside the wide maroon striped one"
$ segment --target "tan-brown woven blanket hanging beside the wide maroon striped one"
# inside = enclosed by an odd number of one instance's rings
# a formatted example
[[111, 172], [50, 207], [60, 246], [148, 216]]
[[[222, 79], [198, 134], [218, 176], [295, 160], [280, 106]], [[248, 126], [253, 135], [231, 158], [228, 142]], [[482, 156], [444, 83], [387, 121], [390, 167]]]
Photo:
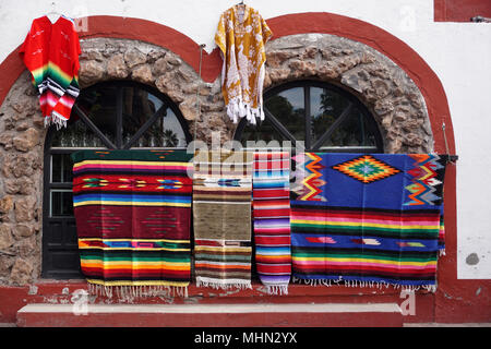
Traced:
[[199, 152], [193, 224], [196, 286], [251, 288], [252, 153]]

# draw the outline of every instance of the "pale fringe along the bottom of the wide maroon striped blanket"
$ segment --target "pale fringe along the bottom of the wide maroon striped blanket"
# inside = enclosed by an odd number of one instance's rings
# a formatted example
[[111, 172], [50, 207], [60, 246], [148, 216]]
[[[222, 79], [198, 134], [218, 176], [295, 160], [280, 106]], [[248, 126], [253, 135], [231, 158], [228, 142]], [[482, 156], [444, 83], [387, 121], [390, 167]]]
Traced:
[[105, 286], [97, 284], [87, 284], [88, 293], [112, 298], [115, 294], [120, 299], [132, 299], [143, 297], [182, 297], [188, 298], [187, 286], [164, 286], [164, 285], [143, 285], [143, 286]]

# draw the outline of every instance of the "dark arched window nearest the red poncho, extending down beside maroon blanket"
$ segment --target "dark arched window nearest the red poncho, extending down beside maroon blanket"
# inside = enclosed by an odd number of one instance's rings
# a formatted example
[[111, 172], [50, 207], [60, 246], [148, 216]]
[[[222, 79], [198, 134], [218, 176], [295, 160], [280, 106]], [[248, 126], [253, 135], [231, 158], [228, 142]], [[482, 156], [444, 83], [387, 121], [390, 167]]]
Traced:
[[134, 82], [105, 82], [81, 92], [67, 129], [48, 131], [44, 159], [43, 277], [81, 277], [72, 206], [72, 160], [83, 148], [185, 148], [179, 108]]

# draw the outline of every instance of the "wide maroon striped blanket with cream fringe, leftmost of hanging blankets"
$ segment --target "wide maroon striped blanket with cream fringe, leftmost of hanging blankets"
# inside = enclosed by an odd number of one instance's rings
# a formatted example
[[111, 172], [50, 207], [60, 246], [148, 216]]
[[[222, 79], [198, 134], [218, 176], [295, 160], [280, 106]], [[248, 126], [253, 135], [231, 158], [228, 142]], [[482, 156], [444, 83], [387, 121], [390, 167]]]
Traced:
[[82, 151], [72, 158], [81, 267], [89, 289], [109, 297], [115, 288], [122, 296], [160, 289], [185, 296], [192, 154]]

